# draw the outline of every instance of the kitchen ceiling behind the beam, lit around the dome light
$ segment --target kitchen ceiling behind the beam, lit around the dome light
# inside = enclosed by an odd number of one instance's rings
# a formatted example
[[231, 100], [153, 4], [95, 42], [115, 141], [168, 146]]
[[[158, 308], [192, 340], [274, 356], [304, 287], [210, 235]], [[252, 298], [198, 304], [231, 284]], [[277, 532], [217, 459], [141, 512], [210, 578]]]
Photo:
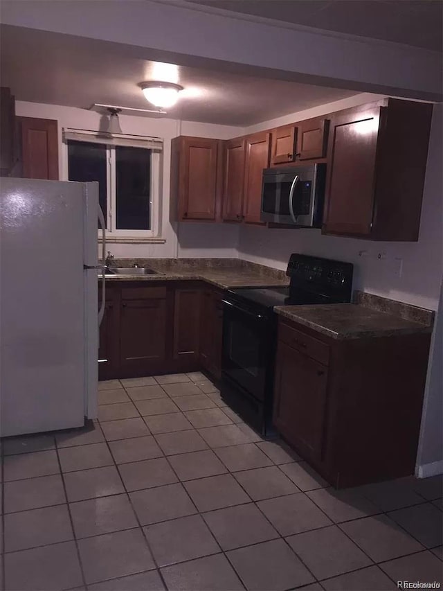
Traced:
[[[1, 26], [1, 85], [17, 100], [89, 108], [150, 109], [138, 83], [178, 82], [185, 90], [168, 116], [246, 127], [356, 94], [355, 91], [162, 64], [119, 44]], [[260, 100], [257, 98], [260, 97]]]

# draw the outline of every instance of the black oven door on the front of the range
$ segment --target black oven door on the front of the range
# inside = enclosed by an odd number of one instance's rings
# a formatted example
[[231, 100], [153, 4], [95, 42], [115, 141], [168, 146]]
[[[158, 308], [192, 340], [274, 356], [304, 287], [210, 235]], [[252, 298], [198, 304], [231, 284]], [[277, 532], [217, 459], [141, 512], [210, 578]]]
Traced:
[[254, 398], [264, 401], [266, 371], [271, 358], [271, 321], [223, 300], [221, 373]]

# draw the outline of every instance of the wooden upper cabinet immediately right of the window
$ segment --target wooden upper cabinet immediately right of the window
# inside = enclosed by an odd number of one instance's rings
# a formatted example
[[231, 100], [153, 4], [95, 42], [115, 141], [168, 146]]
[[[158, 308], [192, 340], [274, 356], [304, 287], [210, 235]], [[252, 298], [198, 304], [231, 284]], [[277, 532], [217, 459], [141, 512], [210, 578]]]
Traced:
[[172, 140], [172, 207], [179, 220], [215, 221], [219, 191], [219, 151], [217, 139], [181, 136]]

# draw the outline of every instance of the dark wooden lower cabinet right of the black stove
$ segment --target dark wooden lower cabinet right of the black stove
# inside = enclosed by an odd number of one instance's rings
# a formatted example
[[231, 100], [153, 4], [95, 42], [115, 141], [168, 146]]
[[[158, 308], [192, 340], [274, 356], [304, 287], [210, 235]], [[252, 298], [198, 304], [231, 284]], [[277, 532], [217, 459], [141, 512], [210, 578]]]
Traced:
[[413, 474], [430, 341], [337, 340], [280, 319], [276, 429], [336, 488]]

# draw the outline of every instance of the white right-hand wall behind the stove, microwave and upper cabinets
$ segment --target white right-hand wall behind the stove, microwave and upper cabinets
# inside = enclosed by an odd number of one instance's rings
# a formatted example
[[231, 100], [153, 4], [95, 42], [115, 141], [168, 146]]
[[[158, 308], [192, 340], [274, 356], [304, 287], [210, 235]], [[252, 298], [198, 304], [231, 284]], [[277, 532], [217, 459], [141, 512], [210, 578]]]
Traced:
[[[372, 98], [374, 96], [372, 95]], [[276, 125], [301, 121], [367, 102], [371, 95], [360, 95], [280, 118]], [[245, 132], [266, 129], [264, 122]], [[258, 129], [257, 129], [258, 128]], [[435, 105], [429, 143], [422, 219], [418, 242], [370, 242], [336, 236], [322, 236], [313, 229], [265, 229], [242, 226], [239, 257], [284, 269], [291, 252], [336, 258], [354, 263], [354, 287], [383, 297], [437, 309], [442, 278], [442, 105]], [[363, 256], [359, 252], [363, 251]], [[382, 258], [378, 258], [382, 254]]]

